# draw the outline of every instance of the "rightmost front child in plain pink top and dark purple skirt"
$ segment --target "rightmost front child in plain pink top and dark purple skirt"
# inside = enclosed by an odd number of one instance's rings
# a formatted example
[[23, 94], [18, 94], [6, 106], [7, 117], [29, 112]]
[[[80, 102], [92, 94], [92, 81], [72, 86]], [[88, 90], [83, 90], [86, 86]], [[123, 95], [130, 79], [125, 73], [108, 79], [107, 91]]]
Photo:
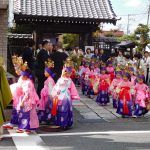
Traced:
[[146, 110], [146, 100], [148, 98], [148, 86], [144, 84], [144, 75], [137, 77], [137, 83], [135, 85], [135, 111], [134, 117], [144, 115]]

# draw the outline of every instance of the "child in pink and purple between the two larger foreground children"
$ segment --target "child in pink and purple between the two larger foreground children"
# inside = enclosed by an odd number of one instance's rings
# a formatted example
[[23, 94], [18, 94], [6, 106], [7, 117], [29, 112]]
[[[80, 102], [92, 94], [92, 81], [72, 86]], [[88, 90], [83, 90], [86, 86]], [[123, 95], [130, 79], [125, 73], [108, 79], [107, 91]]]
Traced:
[[39, 101], [39, 111], [38, 117], [39, 121], [49, 122], [52, 118], [51, 110], [52, 110], [52, 100], [50, 99], [51, 91], [55, 85], [53, 80], [54, 73], [52, 72], [52, 68], [54, 67], [54, 62], [52, 60], [48, 60], [45, 63], [45, 77], [47, 80], [44, 82], [44, 88], [41, 90], [41, 99]]

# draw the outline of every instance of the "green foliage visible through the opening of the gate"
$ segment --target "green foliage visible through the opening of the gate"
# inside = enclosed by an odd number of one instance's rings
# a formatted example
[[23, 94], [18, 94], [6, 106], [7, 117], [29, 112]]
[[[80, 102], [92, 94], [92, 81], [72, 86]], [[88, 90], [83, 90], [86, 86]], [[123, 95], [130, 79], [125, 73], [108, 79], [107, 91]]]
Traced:
[[79, 45], [78, 34], [63, 34], [63, 46], [65, 48], [73, 48]]

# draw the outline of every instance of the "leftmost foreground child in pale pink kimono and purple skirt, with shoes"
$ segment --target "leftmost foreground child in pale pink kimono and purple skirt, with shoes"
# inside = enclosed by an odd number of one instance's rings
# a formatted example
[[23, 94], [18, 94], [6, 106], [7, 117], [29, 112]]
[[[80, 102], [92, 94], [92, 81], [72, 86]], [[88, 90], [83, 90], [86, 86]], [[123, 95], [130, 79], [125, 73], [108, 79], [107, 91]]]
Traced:
[[[15, 89], [11, 88], [14, 99], [13, 105], [15, 108], [12, 111], [13, 117], [11, 121], [17, 121], [18, 133], [30, 133], [31, 130], [35, 130], [39, 127], [38, 116], [36, 113], [39, 97], [36, 93], [33, 81], [31, 80], [31, 71], [28, 69], [27, 63], [21, 64], [20, 67], [20, 79], [13, 86]], [[3, 127], [5, 129], [10, 129], [10, 127], [13, 128], [13, 125], [14, 124], [8, 124]]]

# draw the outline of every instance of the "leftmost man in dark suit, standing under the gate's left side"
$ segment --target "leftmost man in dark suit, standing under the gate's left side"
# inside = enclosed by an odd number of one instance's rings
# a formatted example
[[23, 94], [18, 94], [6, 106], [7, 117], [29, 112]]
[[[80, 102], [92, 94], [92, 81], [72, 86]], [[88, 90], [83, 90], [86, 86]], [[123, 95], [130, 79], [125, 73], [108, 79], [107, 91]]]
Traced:
[[22, 59], [23, 61], [27, 61], [28, 66], [31, 70], [34, 69], [34, 57], [33, 52], [35, 49], [35, 42], [33, 40], [30, 40], [26, 43], [26, 47], [23, 50]]

